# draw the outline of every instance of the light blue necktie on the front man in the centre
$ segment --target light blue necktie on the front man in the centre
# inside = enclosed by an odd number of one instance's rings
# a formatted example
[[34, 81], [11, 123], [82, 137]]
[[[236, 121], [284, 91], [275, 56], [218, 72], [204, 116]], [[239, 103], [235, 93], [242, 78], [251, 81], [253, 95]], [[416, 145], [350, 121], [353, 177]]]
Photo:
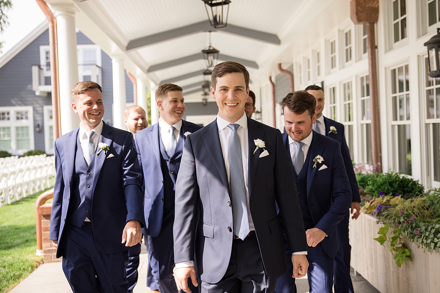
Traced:
[[232, 130], [231, 137], [229, 138], [229, 181], [231, 182], [234, 234], [244, 240], [249, 234], [250, 229], [243, 175], [242, 148], [237, 132], [239, 126], [240, 124], [235, 123], [227, 126]]

